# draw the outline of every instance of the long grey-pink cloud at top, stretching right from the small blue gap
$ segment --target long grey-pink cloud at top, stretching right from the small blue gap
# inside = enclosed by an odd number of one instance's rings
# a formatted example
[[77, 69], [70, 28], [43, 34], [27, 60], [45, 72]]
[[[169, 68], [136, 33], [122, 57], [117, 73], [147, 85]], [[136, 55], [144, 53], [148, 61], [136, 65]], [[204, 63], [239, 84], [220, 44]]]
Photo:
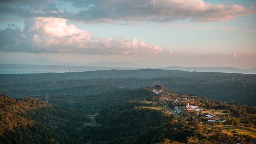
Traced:
[[[93, 5], [87, 10], [79, 11], [74, 16], [83, 16], [91, 23], [102, 19], [126, 21], [170, 22], [190, 19], [194, 22], [227, 21], [234, 17], [256, 13], [256, 9], [245, 9], [231, 4], [210, 4], [201, 0], [130, 0], [130, 1], [87, 1]], [[87, 4], [87, 5], [88, 5]]]

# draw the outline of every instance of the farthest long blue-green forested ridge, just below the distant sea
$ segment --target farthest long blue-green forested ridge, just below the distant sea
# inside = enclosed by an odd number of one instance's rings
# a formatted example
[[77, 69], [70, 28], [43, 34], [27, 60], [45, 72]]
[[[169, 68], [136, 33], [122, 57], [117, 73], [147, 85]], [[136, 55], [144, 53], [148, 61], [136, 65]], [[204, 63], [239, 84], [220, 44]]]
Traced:
[[99, 78], [160, 78], [160, 77], [256, 77], [255, 74], [237, 73], [210, 73], [210, 72], [187, 72], [178, 70], [141, 69], [141, 70], [100, 70], [76, 73], [39, 73], [39, 74], [1, 74], [1, 83], [10, 83], [13, 80], [22, 82], [36, 81], [57, 81], [57, 80], [78, 80], [78, 79], [99, 79]]

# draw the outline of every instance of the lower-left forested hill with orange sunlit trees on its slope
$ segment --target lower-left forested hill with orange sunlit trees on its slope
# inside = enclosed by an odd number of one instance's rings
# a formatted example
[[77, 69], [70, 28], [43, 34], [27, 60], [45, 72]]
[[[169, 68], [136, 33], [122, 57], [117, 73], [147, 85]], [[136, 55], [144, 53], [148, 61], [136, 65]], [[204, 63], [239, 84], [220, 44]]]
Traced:
[[[85, 143], [80, 130], [91, 122], [78, 109], [37, 98], [0, 94], [0, 143]], [[77, 137], [77, 138], [76, 138]]]

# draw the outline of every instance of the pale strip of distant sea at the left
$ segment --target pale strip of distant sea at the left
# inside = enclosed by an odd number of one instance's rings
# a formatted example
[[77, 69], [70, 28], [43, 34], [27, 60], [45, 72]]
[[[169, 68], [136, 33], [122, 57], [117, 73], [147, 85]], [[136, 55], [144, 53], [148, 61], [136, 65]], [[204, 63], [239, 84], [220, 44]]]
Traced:
[[28, 73], [64, 73], [64, 72], [76, 72], [73, 70], [51, 70], [51, 69], [0, 69], [0, 74], [28, 74]]

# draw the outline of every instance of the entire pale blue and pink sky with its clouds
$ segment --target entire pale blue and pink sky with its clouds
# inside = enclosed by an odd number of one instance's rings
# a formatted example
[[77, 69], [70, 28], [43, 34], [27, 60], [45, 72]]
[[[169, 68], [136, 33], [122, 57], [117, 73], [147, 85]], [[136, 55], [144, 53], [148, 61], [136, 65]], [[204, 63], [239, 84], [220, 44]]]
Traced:
[[250, 69], [255, 45], [254, 0], [0, 1], [2, 61]]

